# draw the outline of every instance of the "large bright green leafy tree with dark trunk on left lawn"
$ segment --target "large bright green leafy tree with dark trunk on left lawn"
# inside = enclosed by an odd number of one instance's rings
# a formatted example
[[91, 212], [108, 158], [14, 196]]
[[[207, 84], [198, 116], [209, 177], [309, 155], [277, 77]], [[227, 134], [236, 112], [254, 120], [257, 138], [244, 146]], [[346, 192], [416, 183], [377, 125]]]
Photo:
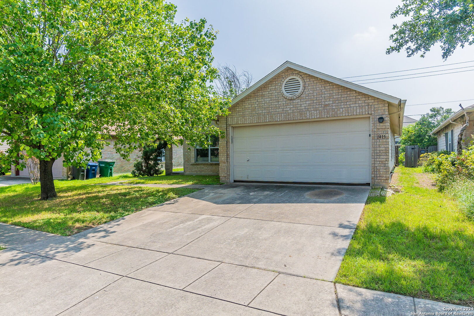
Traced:
[[[100, 158], [110, 134], [129, 153], [159, 138], [206, 143], [228, 99], [211, 85], [216, 32], [175, 22], [163, 0], [1, 0], [1, 163], [40, 160], [41, 199], [56, 196], [52, 165]], [[19, 153], [19, 156], [17, 156]]]

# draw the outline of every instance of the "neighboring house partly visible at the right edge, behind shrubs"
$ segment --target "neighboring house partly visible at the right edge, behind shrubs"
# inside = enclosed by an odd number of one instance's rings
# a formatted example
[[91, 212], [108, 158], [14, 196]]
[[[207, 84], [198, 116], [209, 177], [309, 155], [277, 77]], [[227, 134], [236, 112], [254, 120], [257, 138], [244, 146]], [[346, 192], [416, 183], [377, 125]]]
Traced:
[[[463, 135], [463, 145], [466, 146], [472, 140], [474, 134], [474, 105], [465, 108], [469, 116], [469, 126], [466, 127]], [[466, 117], [463, 110], [457, 111], [447, 120], [438, 125], [430, 134], [438, 138], [438, 150], [455, 152], [457, 147], [457, 137], [461, 127], [465, 124]]]

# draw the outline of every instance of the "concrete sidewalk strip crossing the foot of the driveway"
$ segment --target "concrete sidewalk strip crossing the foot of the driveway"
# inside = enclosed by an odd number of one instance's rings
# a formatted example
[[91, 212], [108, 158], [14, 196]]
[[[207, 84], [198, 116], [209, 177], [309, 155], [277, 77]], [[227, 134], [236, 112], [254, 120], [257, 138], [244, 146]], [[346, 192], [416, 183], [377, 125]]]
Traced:
[[463, 308], [75, 237], [15, 248], [0, 251], [1, 315], [408, 316]]

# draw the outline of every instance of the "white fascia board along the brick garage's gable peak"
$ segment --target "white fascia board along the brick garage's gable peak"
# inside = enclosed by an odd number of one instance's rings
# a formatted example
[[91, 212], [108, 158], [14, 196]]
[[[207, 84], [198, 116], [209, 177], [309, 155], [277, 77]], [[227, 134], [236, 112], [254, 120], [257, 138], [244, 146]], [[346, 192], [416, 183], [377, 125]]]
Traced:
[[359, 91], [359, 92], [362, 92], [362, 93], [365, 93], [367, 95], [370, 95], [370, 96], [373, 96], [375, 98], [378, 98], [378, 99], [382, 99], [382, 100], [385, 100], [385, 101], [388, 101], [392, 104], [395, 104], [395, 105], [398, 105], [399, 102], [401, 101], [400, 98], [395, 98], [391, 95], [388, 95], [388, 94], [385, 94], [385, 93], [382, 93], [382, 92], [379, 92], [379, 91], [376, 91], [376, 90], [373, 90], [373, 89], [369, 89], [369, 88], [366, 88], [366, 87], [363, 87], [361, 85], [358, 85], [356, 83], [353, 83], [353, 82], [350, 82], [350, 81], [346, 81], [346, 80], [343, 80], [343, 79], [339, 79], [339, 78], [336, 78], [336, 77], [333, 77], [333, 76], [330, 76], [328, 74], [325, 74], [325, 73], [322, 73], [322, 72], [317, 72], [316, 70], [312, 70], [310, 68], [307, 68], [307, 67], [304, 67], [304, 66], [301, 66], [301, 65], [298, 65], [296, 63], [292, 63], [292, 62], [289, 62], [289, 61], [286, 61], [284, 62], [280, 67], [276, 68], [275, 70], [273, 70], [273, 72], [270, 72], [269, 74], [267, 74], [265, 77], [263, 77], [262, 79], [260, 79], [259, 81], [255, 82], [251, 87], [249, 87], [247, 90], [245, 90], [244, 92], [240, 93], [237, 97], [235, 97], [231, 102], [230, 102], [230, 105], [234, 105], [235, 103], [237, 103], [238, 101], [240, 101], [241, 99], [245, 98], [247, 95], [249, 95], [250, 93], [252, 93], [254, 90], [258, 89], [260, 86], [262, 86], [264, 83], [266, 83], [267, 81], [269, 81], [270, 79], [272, 79], [274, 76], [276, 76], [279, 72], [282, 72], [285, 68], [292, 68], [292, 69], [295, 69], [295, 70], [298, 70], [300, 72], [304, 72], [304, 73], [307, 73], [309, 75], [312, 75], [314, 77], [317, 77], [317, 78], [321, 78], [321, 79], [324, 79], [324, 80], [327, 80], [327, 81], [330, 81], [330, 82], [333, 82], [333, 83], [336, 83], [338, 85], [341, 85], [343, 87], [346, 87], [346, 88], [349, 88], [349, 89], [352, 89], [352, 90], [356, 90], [356, 91]]

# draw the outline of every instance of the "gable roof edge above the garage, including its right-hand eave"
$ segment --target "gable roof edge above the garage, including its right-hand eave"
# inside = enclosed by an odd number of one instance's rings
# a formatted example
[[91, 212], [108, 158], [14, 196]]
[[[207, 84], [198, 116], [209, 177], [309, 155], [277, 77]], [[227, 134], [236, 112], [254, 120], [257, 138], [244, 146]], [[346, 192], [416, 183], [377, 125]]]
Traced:
[[[273, 70], [273, 72], [270, 72], [265, 77], [263, 77], [259, 81], [255, 82], [247, 90], [240, 93], [237, 97], [232, 99], [232, 101], [230, 102], [230, 105], [232, 106], [232, 105], [236, 104], [238, 101], [240, 101], [241, 99], [244, 99], [247, 95], [249, 95], [253, 91], [260, 88], [262, 85], [264, 85], [266, 82], [270, 81], [274, 76], [276, 76], [278, 73], [282, 72], [286, 68], [292, 68], [292, 69], [298, 70], [300, 72], [307, 73], [311, 76], [314, 76], [314, 77], [317, 77], [317, 78], [320, 78], [320, 79], [324, 79], [326, 81], [336, 83], [336, 84], [341, 85], [343, 87], [346, 87], [346, 88], [349, 88], [349, 89], [352, 89], [352, 90], [356, 90], [356, 91], [365, 93], [367, 95], [373, 96], [375, 98], [387, 101], [388, 104], [389, 104], [389, 115], [393, 116], [393, 118], [398, 117], [397, 124], [392, 126], [392, 127], [395, 127], [396, 132], [398, 132], [397, 134], [400, 134], [401, 127], [403, 125], [403, 120], [401, 119], [401, 117], [403, 117], [403, 112], [405, 110], [406, 100], [402, 100], [400, 98], [393, 97], [393, 96], [385, 94], [383, 92], [376, 91], [376, 90], [373, 90], [373, 89], [370, 89], [370, 88], [366, 88], [366, 87], [363, 87], [363, 86], [358, 85], [356, 83], [346, 81], [346, 80], [343, 80], [343, 79], [339, 79], [339, 78], [330, 76], [326, 73], [318, 72], [316, 70], [313, 70], [313, 69], [310, 69], [308, 67], [304, 67], [304, 66], [301, 66], [299, 64], [292, 63], [292, 62], [289, 62], [289, 61], [284, 62], [278, 68]], [[392, 111], [391, 111], [390, 108], [392, 109]]]

